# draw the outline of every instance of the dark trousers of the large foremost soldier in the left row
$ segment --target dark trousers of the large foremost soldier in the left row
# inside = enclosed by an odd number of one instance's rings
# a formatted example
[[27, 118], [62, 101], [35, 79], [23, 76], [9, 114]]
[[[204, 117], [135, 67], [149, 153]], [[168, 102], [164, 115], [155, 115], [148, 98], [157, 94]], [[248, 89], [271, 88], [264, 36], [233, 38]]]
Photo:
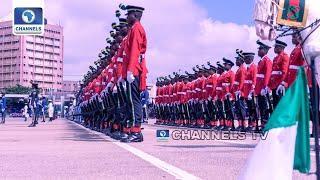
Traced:
[[130, 117], [129, 127], [140, 126], [142, 120], [142, 105], [140, 100], [140, 79], [135, 77], [132, 83], [127, 82], [127, 94], [129, 99], [128, 117]]

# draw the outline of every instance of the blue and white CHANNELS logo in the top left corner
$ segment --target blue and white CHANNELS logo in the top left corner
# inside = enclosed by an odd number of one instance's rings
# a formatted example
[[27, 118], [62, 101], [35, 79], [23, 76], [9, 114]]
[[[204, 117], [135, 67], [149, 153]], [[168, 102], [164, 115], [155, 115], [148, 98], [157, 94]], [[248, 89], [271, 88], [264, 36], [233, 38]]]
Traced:
[[[28, 2], [28, 1], [27, 1]], [[43, 35], [44, 13], [41, 0], [15, 1], [13, 7], [13, 34], [15, 35]]]

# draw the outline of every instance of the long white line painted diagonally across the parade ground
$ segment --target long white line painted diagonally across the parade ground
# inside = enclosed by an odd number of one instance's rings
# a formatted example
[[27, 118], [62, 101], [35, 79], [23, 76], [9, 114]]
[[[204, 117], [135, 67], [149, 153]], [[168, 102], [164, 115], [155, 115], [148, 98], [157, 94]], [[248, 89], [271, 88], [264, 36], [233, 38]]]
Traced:
[[159, 168], [159, 169], [171, 174], [176, 179], [181, 179], [181, 180], [182, 179], [183, 180], [185, 180], [185, 179], [186, 180], [200, 179], [199, 177], [196, 177], [195, 175], [190, 174], [187, 171], [184, 171], [184, 170], [182, 170], [182, 169], [180, 169], [178, 167], [175, 167], [175, 166], [173, 166], [171, 164], [168, 164], [168, 163], [166, 163], [166, 162], [164, 162], [164, 161], [162, 161], [162, 160], [160, 160], [160, 159], [158, 159], [158, 158], [156, 158], [156, 157], [154, 157], [154, 156], [152, 156], [152, 155], [150, 155], [150, 154], [148, 154], [146, 152], [143, 152], [143, 151], [141, 151], [141, 150], [139, 150], [137, 148], [134, 148], [134, 147], [130, 146], [129, 144], [120, 143], [118, 141], [115, 141], [115, 140], [107, 137], [103, 133], [96, 132], [96, 131], [93, 131], [91, 129], [87, 129], [87, 128], [83, 127], [82, 125], [77, 124], [77, 123], [75, 123], [73, 121], [70, 121], [70, 122], [72, 122], [73, 124], [77, 125], [78, 127], [82, 128], [82, 129], [88, 131], [90, 134], [97, 135], [100, 138], [105, 139], [107, 141], [110, 141], [113, 144], [115, 144], [115, 145], [117, 145], [117, 146], [119, 146], [119, 147], [121, 147], [121, 148], [123, 148], [123, 149], [125, 149], [125, 150], [127, 150], [129, 152], [131, 152], [132, 154], [134, 154], [134, 155], [138, 156], [139, 158], [149, 162], [150, 164], [154, 165], [155, 167], [157, 167], [157, 168]]

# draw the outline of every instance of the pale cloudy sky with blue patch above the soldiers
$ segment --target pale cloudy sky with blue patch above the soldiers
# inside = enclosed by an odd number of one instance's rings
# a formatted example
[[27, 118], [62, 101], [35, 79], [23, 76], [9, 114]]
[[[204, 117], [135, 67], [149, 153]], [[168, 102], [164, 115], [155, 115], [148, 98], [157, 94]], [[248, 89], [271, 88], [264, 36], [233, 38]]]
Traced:
[[[98, 59], [111, 23], [116, 22], [114, 12], [120, 3], [146, 9], [142, 24], [147, 32], [151, 83], [157, 76], [191, 70], [208, 60], [234, 60], [237, 48], [257, 51], [253, 0], [45, 0], [48, 23], [64, 27], [64, 79], [80, 80]], [[11, 0], [2, 0], [0, 17], [11, 9]]]

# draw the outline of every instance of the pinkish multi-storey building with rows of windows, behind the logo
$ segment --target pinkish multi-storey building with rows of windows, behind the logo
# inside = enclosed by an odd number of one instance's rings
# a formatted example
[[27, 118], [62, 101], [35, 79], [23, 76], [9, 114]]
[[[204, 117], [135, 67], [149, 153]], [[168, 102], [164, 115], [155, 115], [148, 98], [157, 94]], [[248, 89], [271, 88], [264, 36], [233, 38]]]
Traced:
[[63, 27], [45, 25], [43, 36], [15, 36], [12, 21], [0, 20], [0, 89], [39, 84], [45, 92], [61, 91], [63, 81]]

